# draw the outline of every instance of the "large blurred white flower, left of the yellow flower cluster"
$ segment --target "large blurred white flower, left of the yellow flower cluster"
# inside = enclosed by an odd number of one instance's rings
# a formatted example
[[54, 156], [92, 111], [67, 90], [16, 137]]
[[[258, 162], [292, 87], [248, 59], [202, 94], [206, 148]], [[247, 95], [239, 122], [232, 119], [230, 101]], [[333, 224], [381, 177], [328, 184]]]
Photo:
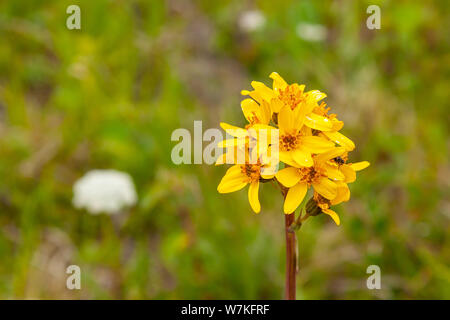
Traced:
[[130, 175], [116, 170], [92, 170], [75, 182], [73, 205], [92, 214], [115, 214], [137, 202]]

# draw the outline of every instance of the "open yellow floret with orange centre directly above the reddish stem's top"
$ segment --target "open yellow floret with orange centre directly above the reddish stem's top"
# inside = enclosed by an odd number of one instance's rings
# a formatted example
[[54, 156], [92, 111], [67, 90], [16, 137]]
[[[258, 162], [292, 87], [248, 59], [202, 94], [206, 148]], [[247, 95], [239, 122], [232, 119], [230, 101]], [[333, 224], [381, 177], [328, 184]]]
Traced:
[[289, 188], [284, 201], [284, 213], [294, 212], [310, 186], [325, 199], [333, 200], [338, 195], [338, 184], [344, 175], [331, 166], [328, 161], [343, 154], [345, 149], [334, 148], [321, 155], [313, 157], [310, 167], [288, 167], [276, 173], [275, 177], [285, 187]]

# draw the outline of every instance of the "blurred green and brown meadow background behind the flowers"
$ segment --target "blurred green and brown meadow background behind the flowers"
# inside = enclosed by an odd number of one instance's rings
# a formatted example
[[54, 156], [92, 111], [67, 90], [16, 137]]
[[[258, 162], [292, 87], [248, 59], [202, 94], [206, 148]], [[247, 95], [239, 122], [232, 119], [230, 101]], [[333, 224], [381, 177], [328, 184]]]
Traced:
[[[449, 17], [444, 0], [1, 1], [0, 298], [283, 298], [278, 191], [255, 215], [217, 193], [225, 167], [170, 158], [176, 128], [244, 125], [240, 90], [277, 71], [326, 92], [350, 160], [371, 162], [340, 227], [298, 233], [298, 298], [450, 299]], [[74, 208], [93, 169], [127, 172], [136, 205]]]

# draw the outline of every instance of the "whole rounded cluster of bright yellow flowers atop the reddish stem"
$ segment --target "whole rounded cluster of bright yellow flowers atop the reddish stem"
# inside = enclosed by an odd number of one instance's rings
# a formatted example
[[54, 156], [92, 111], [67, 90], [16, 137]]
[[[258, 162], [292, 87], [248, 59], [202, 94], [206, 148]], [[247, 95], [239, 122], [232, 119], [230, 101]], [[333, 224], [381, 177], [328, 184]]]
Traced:
[[[285, 191], [284, 212], [290, 214], [312, 187], [316, 206], [339, 225], [339, 216], [330, 207], [349, 200], [347, 184], [355, 181], [356, 171], [369, 163], [348, 162], [348, 152], [355, 144], [339, 132], [344, 123], [320, 102], [326, 97], [323, 92], [305, 91], [305, 86], [297, 83], [287, 84], [276, 72], [270, 78], [272, 89], [253, 81], [252, 91], [242, 91], [250, 97], [241, 102], [249, 123], [245, 128], [221, 123], [233, 138], [219, 144], [226, 150], [216, 164], [234, 165], [217, 190], [229, 193], [249, 184], [248, 199], [258, 213], [259, 183], [274, 180]], [[285, 167], [277, 171], [280, 163]]]

